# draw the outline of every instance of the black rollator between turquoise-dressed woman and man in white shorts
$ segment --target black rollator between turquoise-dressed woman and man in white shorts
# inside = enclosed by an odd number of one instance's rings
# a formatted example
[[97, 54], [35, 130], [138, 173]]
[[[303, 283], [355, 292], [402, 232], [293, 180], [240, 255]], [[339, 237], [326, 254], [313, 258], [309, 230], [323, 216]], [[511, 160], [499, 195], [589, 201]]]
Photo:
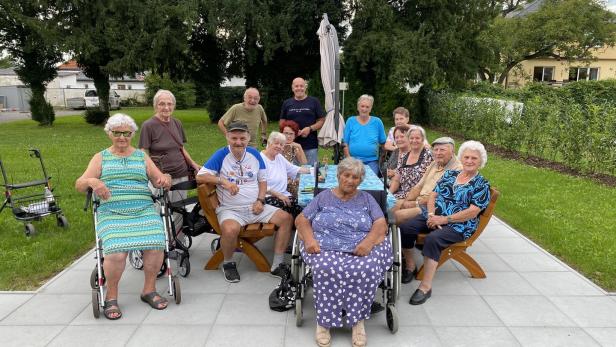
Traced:
[[[171, 186], [168, 192], [164, 193], [161, 209], [166, 209], [166, 214], [169, 216], [165, 221], [169, 237], [171, 238], [169, 257], [175, 260], [178, 265], [178, 273], [182, 277], [187, 277], [190, 274], [190, 253], [189, 249], [192, 246], [193, 237], [199, 236], [204, 232], [213, 233], [211, 225], [207, 222], [204, 216], [199, 212], [201, 205], [197, 196], [188, 197], [179, 201], [171, 201], [170, 195], [176, 190], [194, 190], [197, 189], [195, 180], [180, 182]], [[182, 225], [176, 226], [174, 214], [179, 214], [182, 217]], [[143, 252], [130, 251], [128, 260], [131, 266], [137, 270], [143, 268]], [[167, 264], [163, 263], [158, 276], [163, 276], [166, 271]]]

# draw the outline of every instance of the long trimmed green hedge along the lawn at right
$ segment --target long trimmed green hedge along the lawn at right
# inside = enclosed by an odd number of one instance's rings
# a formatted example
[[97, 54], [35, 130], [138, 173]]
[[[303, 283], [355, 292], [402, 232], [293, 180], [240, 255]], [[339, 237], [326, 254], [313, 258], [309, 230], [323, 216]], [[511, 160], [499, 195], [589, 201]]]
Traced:
[[[524, 106], [512, 112], [489, 98]], [[562, 88], [531, 84], [517, 90], [480, 84], [461, 93], [431, 93], [427, 112], [432, 125], [465, 138], [585, 173], [616, 175], [614, 80], [574, 82]]]

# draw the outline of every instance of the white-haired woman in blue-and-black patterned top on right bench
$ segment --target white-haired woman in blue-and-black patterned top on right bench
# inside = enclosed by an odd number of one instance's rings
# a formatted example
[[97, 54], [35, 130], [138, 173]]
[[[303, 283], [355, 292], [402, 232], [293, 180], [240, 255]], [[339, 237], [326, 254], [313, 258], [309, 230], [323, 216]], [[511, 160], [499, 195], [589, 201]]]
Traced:
[[464, 142], [458, 159], [462, 162], [462, 170], [446, 171], [430, 194], [426, 209], [400, 225], [403, 242], [407, 244], [409, 238], [414, 243], [419, 233], [429, 232], [422, 252], [424, 275], [411, 296], [411, 305], [421, 305], [430, 298], [441, 252], [475, 232], [479, 213], [490, 202], [490, 184], [479, 173], [488, 160], [484, 146], [477, 141]]

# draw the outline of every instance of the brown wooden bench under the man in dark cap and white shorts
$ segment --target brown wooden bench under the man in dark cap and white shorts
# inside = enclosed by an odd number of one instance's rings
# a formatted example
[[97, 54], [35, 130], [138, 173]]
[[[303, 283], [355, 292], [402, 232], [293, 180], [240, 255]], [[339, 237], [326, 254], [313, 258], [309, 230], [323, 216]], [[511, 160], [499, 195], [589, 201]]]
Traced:
[[[218, 235], [222, 234], [218, 218], [216, 217], [216, 208], [218, 207], [218, 196], [216, 195], [216, 185], [201, 184], [197, 188], [199, 193], [199, 202], [205, 218], [216, 231]], [[248, 224], [240, 230], [237, 238], [236, 247], [241, 249], [246, 256], [256, 265], [260, 272], [269, 272], [270, 263], [267, 261], [263, 253], [254, 245], [257, 241], [264, 237], [274, 235], [276, 226], [271, 223], [255, 223]], [[224, 260], [222, 250], [219, 248], [205, 264], [205, 270], [216, 270], [220, 263]]]

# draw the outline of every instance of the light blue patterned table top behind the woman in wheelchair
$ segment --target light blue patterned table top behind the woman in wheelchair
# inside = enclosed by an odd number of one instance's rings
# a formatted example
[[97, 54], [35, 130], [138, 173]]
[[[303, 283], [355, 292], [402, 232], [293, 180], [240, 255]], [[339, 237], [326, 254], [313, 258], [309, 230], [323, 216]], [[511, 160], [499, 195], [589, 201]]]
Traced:
[[[338, 186], [338, 177], [336, 175], [338, 165], [327, 165], [327, 175], [324, 182], [319, 182], [319, 188], [334, 188]], [[366, 177], [359, 185], [361, 190], [383, 190], [383, 181], [368, 166], [366, 169]], [[314, 175], [302, 174], [299, 177], [299, 188], [297, 193], [297, 202], [300, 206], [305, 207], [314, 197]], [[387, 208], [390, 209], [396, 204], [396, 198], [387, 192]]]

